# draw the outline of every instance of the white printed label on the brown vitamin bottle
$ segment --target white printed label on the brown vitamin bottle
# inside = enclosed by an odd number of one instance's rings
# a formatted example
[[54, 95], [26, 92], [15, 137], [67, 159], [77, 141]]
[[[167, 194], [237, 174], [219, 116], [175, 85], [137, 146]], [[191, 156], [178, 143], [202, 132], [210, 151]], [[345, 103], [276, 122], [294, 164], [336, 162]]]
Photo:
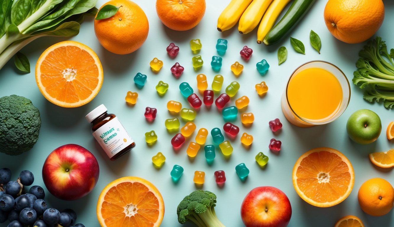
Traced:
[[134, 140], [128, 135], [118, 117], [114, 117], [93, 132], [93, 136], [109, 158], [112, 158], [119, 151], [134, 143]]

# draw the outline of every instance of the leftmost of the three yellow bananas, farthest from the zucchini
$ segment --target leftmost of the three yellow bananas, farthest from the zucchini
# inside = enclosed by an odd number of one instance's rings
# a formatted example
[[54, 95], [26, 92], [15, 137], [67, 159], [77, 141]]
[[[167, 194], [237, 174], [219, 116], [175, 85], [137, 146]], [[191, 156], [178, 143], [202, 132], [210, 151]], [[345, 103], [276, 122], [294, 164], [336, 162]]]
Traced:
[[223, 32], [232, 28], [252, 0], [232, 0], [217, 19], [217, 30]]

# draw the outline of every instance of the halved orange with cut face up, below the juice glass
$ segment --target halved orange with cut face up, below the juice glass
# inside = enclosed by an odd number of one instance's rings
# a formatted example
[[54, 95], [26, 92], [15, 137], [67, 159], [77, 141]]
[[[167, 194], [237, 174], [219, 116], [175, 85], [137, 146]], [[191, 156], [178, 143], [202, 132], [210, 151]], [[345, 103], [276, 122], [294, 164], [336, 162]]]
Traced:
[[339, 151], [319, 147], [301, 155], [293, 168], [297, 194], [316, 207], [331, 207], [346, 199], [354, 185], [354, 171]]

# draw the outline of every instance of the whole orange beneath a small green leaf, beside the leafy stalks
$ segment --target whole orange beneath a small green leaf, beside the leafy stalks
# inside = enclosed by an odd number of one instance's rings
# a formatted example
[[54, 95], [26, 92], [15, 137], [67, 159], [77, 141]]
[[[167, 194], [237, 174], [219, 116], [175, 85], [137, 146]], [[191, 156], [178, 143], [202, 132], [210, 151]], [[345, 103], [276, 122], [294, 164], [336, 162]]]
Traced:
[[136, 51], [148, 37], [147, 16], [141, 7], [129, 0], [111, 0], [101, 8], [108, 4], [119, 7], [119, 10], [110, 18], [95, 20], [97, 39], [104, 48], [115, 54]]

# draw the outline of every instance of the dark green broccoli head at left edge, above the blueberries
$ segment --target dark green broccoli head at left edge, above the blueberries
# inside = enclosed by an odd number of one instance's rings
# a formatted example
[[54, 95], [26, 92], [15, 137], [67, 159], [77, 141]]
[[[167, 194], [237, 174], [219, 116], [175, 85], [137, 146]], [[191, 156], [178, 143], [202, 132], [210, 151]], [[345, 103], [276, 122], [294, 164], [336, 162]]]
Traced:
[[0, 152], [19, 155], [32, 149], [40, 128], [40, 112], [32, 101], [18, 95], [0, 98]]

